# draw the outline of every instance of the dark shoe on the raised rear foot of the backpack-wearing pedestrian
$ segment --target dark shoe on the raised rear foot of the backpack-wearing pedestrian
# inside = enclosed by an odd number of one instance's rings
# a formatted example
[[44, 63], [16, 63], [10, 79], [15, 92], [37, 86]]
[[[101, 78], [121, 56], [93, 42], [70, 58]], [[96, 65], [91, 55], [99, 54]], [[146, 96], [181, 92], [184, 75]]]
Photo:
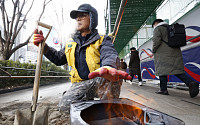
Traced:
[[199, 83], [191, 82], [189, 84], [189, 93], [191, 98], [196, 97], [199, 94]]

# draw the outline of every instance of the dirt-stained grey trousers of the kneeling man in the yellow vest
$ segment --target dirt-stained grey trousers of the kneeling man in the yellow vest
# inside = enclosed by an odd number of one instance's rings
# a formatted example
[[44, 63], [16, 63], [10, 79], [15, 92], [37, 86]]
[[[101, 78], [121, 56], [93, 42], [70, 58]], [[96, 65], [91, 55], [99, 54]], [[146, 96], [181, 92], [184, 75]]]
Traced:
[[110, 82], [101, 77], [73, 83], [70, 89], [64, 92], [58, 104], [59, 110], [68, 113], [71, 103], [93, 100], [95, 97], [101, 100], [119, 98], [121, 85], [122, 80]]

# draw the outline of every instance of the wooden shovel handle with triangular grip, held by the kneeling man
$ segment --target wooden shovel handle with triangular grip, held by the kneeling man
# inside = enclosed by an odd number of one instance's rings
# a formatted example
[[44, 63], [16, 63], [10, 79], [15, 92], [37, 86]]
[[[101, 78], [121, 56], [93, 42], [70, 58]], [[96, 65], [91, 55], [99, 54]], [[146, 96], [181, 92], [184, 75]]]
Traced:
[[41, 22], [38, 22], [38, 25], [49, 29], [49, 32], [48, 32], [47, 36], [44, 38], [44, 41], [39, 44], [37, 64], [36, 64], [36, 70], [35, 70], [34, 86], [33, 86], [32, 111], [36, 110], [36, 104], [37, 104], [37, 100], [38, 100], [38, 91], [39, 91], [39, 85], [40, 85], [41, 66], [42, 66], [42, 56], [43, 56], [45, 41], [46, 41], [47, 37], [49, 36], [51, 29], [52, 29], [52, 26], [49, 26], [49, 25], [41, 23]]

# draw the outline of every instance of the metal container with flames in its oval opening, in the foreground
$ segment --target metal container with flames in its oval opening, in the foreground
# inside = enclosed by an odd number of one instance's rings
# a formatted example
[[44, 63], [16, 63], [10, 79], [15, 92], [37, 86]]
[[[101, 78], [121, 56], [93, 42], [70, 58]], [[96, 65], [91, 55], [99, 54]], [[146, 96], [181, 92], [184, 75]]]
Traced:
[[184, 125], [173, 116], [120, 98], [92, 100], [70, 105], [71, 125]]

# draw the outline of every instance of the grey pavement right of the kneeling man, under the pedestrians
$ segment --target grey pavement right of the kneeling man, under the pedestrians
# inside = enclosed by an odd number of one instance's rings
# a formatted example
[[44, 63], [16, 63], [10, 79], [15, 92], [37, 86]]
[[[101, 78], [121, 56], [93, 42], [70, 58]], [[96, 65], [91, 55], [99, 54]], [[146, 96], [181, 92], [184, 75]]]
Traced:
[[155, 92], [159, 86], [146, 83], [138, 86], [137, 82], [132, 84], [123, 82], [121, 98], [129, 98], [133, 101], [179, 118], [185, 125], [200, 124], [200, 94], [195, 98], [190, 98], [187, 90], [168, 88], [170, 95], [159, 95]]

